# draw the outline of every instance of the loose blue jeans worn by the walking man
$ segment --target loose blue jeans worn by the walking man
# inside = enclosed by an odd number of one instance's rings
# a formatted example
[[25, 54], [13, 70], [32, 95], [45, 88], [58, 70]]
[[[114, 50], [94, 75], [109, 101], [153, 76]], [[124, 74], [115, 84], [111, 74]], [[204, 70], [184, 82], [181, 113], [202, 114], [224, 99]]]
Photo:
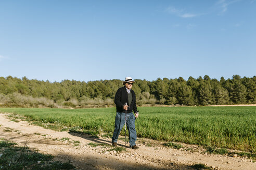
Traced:
[[[123, 125], [125, 124], [125, 113], [123, 112], [117, 112], [116, 121], [114, 123], [114, 133], [112, 137], [113, 142], [117, 142], [118, 136], [123, 128]], [[131, 146], [135, 145], [135, 141], [137, 139], [137, 134], [135, 130], [135, 117], [133, 112], [130, 112], [129, 114], [126, 114], [126, 125], [127, 130], [129, 131], [129, 142]]]

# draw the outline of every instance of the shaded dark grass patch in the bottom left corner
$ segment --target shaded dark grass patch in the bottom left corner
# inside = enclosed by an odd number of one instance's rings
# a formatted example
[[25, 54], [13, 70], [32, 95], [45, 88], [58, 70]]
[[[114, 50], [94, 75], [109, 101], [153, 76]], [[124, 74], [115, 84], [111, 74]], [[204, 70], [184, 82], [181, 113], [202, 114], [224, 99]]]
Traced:
[[21, 169], [74, 169], [69, 162], [61, 163], [53, 161], [53, 155], [42, 154], [31, 150], [28, 147], [17, 147], [17, 144], [0, 140], [0, 169], [21, 170]]

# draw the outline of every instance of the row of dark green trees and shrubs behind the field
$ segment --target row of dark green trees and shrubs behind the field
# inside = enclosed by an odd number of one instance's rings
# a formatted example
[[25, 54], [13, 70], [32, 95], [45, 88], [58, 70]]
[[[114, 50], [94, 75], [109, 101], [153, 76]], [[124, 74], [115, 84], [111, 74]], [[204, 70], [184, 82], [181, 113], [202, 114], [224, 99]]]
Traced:
[[[29, 80], [27, 77], [0, 77], [0, 104], [3, 106], [83, 107], [114, 105], [113, 98], [122, 87], [122, 80], [61, 82]], [[165, 105], [224, 105], [255, 104], [256, 76], [232, 79], [182, 77], [158, 78], [154, 81], [135, 79], [133, 90], [137, 104]]]

